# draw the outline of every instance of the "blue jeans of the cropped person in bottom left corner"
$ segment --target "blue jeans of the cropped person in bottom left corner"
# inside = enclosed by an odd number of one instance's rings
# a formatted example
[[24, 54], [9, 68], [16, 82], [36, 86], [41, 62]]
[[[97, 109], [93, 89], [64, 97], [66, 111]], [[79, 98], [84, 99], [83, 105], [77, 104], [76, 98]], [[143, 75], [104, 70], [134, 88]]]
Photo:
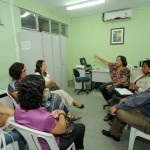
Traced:
[[[18, 146], [19, 146], [20, 150], [24, 150], [25, 145], [26, 145], [26, 141], [18, 131], [14, 130], [14, 131], [11, 131], [11, 132], [7, 132], [7, 134], [11, 135], [13, 137], [14, 141], [18, 141]], [[6, 145], [13, 142], [11, 136], [9, 136], [7, 134], [4, 134]]]

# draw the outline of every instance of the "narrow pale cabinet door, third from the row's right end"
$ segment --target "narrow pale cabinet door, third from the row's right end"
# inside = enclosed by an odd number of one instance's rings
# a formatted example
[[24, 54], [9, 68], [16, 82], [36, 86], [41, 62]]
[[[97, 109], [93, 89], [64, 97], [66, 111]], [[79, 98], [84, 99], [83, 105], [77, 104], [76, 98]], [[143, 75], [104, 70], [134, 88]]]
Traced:
[[54, 77], [53, 69], [53, 50], [52, 50], [52, 37], [51, 34], [42, 33], [43, 37], [43, 48], [44, 48], [44, 60], [47, 65], [47, 71], [51, 77]]

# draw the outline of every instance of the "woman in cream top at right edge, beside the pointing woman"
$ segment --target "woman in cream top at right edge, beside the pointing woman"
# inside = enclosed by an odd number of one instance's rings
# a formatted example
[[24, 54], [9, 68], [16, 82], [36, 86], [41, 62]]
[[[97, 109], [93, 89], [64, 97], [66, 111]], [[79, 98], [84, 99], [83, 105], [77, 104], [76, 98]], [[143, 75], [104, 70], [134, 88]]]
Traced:
[[[140, 75], [136, 78], [134, 83], [130, 83], [129, 90], [131, 90], [133, 93], [140, 93], [146, 91], [148, 88], [150, 88], [150, 60], [146, 60], [142, 64], [142, 72], [143, 75]], [[114, 106], [115, 104], [121, 102], [121, 101], [127, 100], [127, 98], [121, 99], [121, 97], [114, 97], [111, 100], [110, 106]], [[112, 124], [113, 116], [110, 114], [107, 114], [106, 117], [104, 117], [104, 121], [108, 121], [108, 123]]]

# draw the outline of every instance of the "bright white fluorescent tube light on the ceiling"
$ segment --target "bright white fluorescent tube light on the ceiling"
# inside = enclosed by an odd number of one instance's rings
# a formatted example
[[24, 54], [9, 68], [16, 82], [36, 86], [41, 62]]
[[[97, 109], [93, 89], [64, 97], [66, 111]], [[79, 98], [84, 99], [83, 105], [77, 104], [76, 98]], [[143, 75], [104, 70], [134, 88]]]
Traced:
[[85, 2], [85, 3], [78, 3], [78, 4], [75, 4], [75, 5], [68, 6], [66, 9], [67, 10], [79, 9], [79, 8], [99, 5], [99, 4], [102, 4], [102, 3], [105, 3], [105, 0], [96, 0], [96, 1], [89, 1], [89, 2]]

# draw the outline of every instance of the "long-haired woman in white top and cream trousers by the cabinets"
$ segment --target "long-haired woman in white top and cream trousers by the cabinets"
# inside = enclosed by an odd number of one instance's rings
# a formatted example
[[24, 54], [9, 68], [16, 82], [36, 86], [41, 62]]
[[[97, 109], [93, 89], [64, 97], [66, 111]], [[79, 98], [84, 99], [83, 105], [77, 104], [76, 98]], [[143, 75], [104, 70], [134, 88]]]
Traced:
[[[38, 60], [36, 62], [36, 69], [35, 69], [35, 74], [41, 75], [45, 79], [45, 86], [49, 87], [54, 80], [50, 77], [50, 75], [46, 71], [46, 64], [44, 60]], [[73, 98], [64, 90], [55, 90], [55, 91], [50, 91], [51, 93], [57, 93], [60, 95], [62, 98], [63, 102], [66, 105], [71, 105], [73, 104], [74, 106], [78, 108], [84, 108], [83, 104], [80, 104], [79, 102], [73, 100]]]

